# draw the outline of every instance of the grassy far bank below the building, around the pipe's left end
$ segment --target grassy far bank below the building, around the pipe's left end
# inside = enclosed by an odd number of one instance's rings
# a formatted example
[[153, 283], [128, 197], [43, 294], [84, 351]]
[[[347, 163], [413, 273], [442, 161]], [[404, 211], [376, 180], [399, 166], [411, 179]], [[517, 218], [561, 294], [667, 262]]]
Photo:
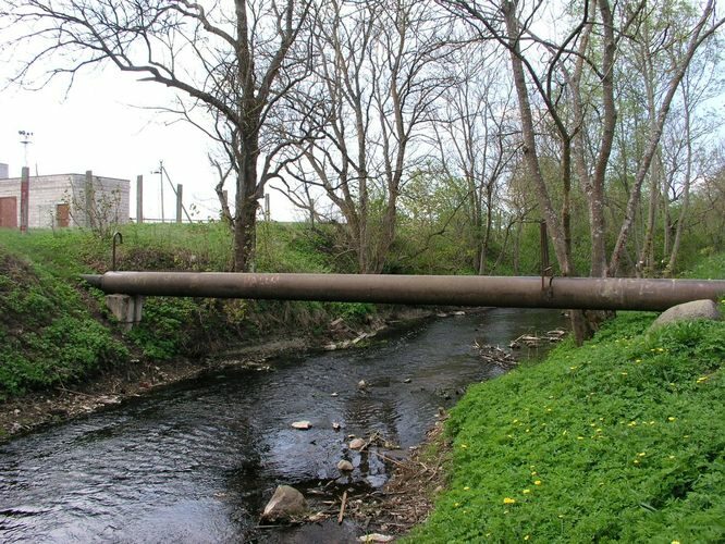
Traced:
[[[229, 230], [218, 223], [124, 225], [120, 270], [223, 271]], [[295, 225], [267, 225], [258, 270], [331, 271], [320, 240]], [[316, 249], [317, 248], [317, 249]], [[111, 244], [78, 230], [0, 231], [0, 399], [69, 385], [132, 357], [199, 357], [270, 334], [321, 335], [339, 317], [353, 327], [372, 305], [150, 297], [124, 334], [103, 294], [78, 279], [111, 268]]]

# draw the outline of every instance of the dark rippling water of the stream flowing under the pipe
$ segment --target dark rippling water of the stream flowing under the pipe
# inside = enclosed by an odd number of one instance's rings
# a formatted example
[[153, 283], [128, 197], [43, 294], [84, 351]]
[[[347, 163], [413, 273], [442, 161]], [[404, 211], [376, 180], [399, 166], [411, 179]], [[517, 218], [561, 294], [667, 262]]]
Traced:
[[[564, 325], [552, 310], [428, 320], [365, 348], [212, 374], [17, 438], [0, 447], [0, 541], [319, 541], [255, 529], [278, 484], [382, 485], [391, 468], [348, 450], [348, 435], [418, 444], [440, 406], [502, 372], [481, 363], [474, 339], [507, 345]], [[312, 428], [292, 429], [297, 420]], [[336, 469], [343, 458], [351, 475]]]

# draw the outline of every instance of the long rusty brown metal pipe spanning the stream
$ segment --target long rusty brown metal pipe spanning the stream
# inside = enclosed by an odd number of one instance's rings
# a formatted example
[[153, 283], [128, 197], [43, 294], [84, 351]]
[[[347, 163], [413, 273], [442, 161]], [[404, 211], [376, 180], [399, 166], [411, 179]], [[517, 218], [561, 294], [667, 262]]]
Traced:
[[107, 272], [84, 276], [106, 293], [404, 305], [665, 310], [725, 294], [723, 280]]

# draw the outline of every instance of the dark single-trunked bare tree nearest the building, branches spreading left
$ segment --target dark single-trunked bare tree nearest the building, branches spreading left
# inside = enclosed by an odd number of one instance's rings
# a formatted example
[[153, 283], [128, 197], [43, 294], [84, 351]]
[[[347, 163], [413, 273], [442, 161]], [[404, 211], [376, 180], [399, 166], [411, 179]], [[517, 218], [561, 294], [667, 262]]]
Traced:
[[235, 178], [234, 212], [225, 201], [222, 208], [238, 271], [251, 264], [258, 200], [279, 172], [275, 157], [287, 139], [306, 135], [288, 126], [281, 138], [267, 137], [279, 102], [309, 72], [311, 59], [295, 44], [311, 10], [310, 0], [0, 2], [0, 17], [28, 29], [7, 46], [24, 61], [16, 82], [42, 86], [66, 76], [72, 84], [84, 69], [110, 63], [179, 91], [176, 107], [162, 109], [220, 143], [221, 184]]

